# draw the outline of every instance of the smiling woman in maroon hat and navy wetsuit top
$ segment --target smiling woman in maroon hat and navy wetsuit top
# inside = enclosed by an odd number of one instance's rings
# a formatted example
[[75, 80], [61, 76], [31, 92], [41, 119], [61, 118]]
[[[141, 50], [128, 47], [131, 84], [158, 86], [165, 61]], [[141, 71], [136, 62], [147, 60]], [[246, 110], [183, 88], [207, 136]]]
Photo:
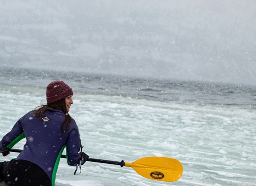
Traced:
[[47, 86], [47, 105], [37, 107], [20, 118], [0, 141], [3, 156], [23, 138], [26, 144], [16, 159], [0, 163], [0, 181], [13, 186], [54, 186], [60, 156], [66, 148], [68, 165], [88, 159], [79, 153], [78, 127], [68, 111], [73, 91], [63, 81]]

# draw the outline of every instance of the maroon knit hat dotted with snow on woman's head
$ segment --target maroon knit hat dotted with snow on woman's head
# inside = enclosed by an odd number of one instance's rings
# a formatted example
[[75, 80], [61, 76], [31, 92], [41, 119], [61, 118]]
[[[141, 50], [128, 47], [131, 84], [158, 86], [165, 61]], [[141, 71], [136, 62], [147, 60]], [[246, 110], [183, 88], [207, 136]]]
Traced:
[[53, 81], [46, 88], [47, 104], [62, 100], [69, 95], [73, 95], [73, 91], [64, 81]]

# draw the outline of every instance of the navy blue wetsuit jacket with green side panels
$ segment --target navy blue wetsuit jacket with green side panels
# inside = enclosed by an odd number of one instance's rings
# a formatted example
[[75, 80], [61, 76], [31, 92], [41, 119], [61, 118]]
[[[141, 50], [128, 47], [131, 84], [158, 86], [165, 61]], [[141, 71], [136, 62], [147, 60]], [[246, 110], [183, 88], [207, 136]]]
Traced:
[[[75, 166], [80, 157], [81, 140], [74, 119], [68, 131], [61, 132], [65, 114], [56, 109], [46, 110], [36, 118], [33, 111], [25, 114], [0, 141], [0, 151], [12, 148], [18, 141], [26, 138], [26, 144], [17, 159], [39, 165], [54, 185], [60, 156], [66, 148], [68, 165]], [[47, 121], [48, 120], [48, 121]], [[83, 161], [84, 162], [84, 161]]]

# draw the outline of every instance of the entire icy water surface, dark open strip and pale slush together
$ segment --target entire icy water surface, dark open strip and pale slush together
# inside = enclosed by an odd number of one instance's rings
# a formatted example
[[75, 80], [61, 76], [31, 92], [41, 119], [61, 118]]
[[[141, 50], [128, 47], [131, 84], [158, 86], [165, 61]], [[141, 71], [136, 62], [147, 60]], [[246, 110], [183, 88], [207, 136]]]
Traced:
[[91, 158], [165, 156], [183, 165], [178, 181], [161, 182], [94, 162], [74, 176], [62, 159], [56, 186], [256, 186], [255, 87], [2, 68], [1, 138], [45, 103], [45, 87], [56, 79], [73, 88], [70, 115]]

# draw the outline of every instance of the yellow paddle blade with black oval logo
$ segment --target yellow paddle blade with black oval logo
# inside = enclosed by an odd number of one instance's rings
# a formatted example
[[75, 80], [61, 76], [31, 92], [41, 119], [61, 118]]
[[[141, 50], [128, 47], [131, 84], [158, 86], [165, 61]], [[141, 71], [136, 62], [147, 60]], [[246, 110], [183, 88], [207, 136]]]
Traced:
[[157, 181], [177, 181], [183, 172], [182, 164], [170, 157], [143, 157], [133, 163], [125, 162], [139, 175]]

